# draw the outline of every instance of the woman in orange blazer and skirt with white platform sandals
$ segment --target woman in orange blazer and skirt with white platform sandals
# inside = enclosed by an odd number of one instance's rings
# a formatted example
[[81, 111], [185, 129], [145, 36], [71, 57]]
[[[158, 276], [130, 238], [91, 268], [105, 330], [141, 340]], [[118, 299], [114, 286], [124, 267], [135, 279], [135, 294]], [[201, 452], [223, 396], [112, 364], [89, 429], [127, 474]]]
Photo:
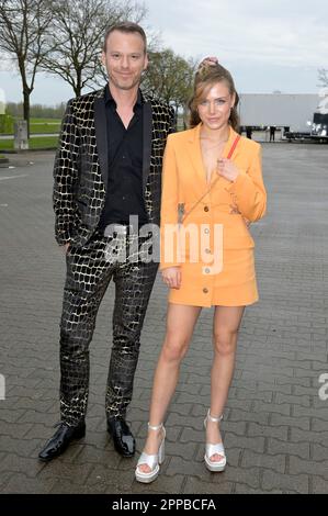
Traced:
[[[258, 301], [248, 224], [264, 215], [267, 201], [261, 148], [237, 134], [237, 103], [228, 70], [213, 59], [203, 61], [190, 102], [192, 128], [168, 138], [160, 265], [170, 288], [167, 334], [154, 378], [148, 437], [135, 472], [139, 482], [152, 482], [159, 473], [165, 415], [203, 306], [215, 306], [204, 460], [210, 471], [223, 471], [226, 465], [219, 422], [244, 310]], [[172, 227], [178, 227], [173, 237]]]

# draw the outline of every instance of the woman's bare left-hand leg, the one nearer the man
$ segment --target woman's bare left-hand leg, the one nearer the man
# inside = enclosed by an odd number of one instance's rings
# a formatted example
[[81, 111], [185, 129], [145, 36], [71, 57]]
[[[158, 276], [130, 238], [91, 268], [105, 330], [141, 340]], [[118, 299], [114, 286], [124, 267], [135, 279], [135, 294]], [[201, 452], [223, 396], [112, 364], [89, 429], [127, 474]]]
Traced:
[[[167, 408], [177, 388], [180, 363], [189, 348], [200, 312], [201, 307], [199, 306], [169, 304], [167, 334], [154, 377], [149, 415], [151, 426], [158, 426], [165, 419]], [[161, 431], [148, 431], [144, 451], [148, 455], [156, 455], [161, 439]], [[139, 470], [145, 473], [150, 471], [147, 464], [139, 465]]]

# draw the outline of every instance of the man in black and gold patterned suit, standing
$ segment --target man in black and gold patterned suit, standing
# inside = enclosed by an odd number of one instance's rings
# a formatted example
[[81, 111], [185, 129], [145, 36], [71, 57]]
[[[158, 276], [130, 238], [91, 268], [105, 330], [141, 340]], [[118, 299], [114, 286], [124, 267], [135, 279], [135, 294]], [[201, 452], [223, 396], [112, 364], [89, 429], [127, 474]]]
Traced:
[[139, 25], [112, 26], [102, 60], [109, 85], [68, 102], [55, 160], [56, 239], [66, 251], [67, 277], [60, 323], [61, 420], [39, 452], [44, 461], [86, 434], [89, 344], [111, 279], [115, 305], [106, 424], [115, 449], [123, 457], [135, 452], [125, 416], [158, 263], [142, 259], [147, 237], [138, 238], [129, 217], [137, 217], [139, 227], [159, 224], [162, 154], [174, 115], [139, 89], [148, 64]]

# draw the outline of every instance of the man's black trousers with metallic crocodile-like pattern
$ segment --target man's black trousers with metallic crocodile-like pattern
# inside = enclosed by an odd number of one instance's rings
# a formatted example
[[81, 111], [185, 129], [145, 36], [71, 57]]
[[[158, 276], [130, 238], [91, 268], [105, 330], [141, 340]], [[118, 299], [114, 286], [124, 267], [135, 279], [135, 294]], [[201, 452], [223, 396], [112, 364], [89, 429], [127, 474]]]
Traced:
[[[113, 278], [113, 347], [105, 411], [125, 417], [137, 366], [140, 332], [158, 263], [145, 262], [145, 237], [131, 233], [112, 237], [95, 233], [83, 247], [67, 251], [67, 277], [60, 322], [60, 412], [70, 426], [87, 412], [89, 344], [101, 300]], [[148, 249], [149, 250], [149, 249]]]

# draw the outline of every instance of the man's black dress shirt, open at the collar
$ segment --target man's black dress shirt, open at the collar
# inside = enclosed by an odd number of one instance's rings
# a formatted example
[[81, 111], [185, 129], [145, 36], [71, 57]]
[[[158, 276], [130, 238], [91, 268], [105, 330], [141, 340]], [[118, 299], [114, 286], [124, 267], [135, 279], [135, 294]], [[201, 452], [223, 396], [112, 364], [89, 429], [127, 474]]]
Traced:
[[148, 222], [143, 195], [143, 102], [140, 92], [134, 116], [125, 128], [109, 87], [104, 94], [109, 142], [109, 182], [99, 227], [128, 224], [138, 215], [139, 225]]

